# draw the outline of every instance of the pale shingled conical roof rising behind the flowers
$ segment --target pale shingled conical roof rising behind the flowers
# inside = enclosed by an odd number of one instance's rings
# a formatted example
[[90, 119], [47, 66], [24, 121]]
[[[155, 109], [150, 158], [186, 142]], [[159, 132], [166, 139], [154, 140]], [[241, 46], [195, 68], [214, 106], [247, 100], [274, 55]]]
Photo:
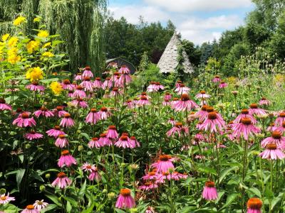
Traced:
[[[157, 67], [160, 67], [160, 72], [167, 73], [167, 72], [174, 72], [175, 67], [177, 67], [177, 49], [178, 46], [181, 45], [181, 42], [176, 34], [172, 36], [170, 42], [167, 44], [165, 51], [163, 52], [160, 61], [157, 63]], [[183, 57], [184, 57], [184, 68], [185, 73], [192, 73], [194, 72], [193, 67], [191, 65], [190, 60], [187, 57], [185, 50], [183, 50]]]

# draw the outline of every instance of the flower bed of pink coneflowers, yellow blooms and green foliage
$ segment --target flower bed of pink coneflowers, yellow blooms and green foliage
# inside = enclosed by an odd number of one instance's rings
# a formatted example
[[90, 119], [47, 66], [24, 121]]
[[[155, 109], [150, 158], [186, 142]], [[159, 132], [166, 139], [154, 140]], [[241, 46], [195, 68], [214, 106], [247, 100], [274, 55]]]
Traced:
[[239, 77], [209, 58], [183, 84], [146, 53], [135, 76], [72, 75], [25, 22], [0, 43], [0, 211], [284, 212], [284, 64], [264, 48]]

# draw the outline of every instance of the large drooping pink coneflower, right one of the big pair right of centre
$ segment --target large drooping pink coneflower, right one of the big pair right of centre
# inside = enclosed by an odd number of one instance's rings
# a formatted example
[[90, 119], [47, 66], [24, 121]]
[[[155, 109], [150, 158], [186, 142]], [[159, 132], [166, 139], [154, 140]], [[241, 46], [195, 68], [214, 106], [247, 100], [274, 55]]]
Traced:
[[232, 130], [233, 136], [236, 136], [237, 138], [243, 136], [244, 140], [247, 140], [249, 136], [257, 135], [257, 133], [261, 132], [259, 128], [252, 124], [252, 120], [249, 118], [244, 118], [239, 124], [234, 124]]

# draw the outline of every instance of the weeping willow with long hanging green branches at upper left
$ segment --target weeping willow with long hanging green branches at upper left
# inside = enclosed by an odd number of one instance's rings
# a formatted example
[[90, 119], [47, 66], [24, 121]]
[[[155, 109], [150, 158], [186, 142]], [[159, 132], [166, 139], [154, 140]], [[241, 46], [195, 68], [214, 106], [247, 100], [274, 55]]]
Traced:
[[106, 6], [107, 0], [0, 0], [0, 35], [14, 31], [12, 21], [20, 14], [27, 18], [24, 31], [31, 33], [33, 18], [41, 16], [41, 24], [65, 41], [58, 49], [67, 53], [71, 70], [89, 65], [99, 72], [105, 65]]

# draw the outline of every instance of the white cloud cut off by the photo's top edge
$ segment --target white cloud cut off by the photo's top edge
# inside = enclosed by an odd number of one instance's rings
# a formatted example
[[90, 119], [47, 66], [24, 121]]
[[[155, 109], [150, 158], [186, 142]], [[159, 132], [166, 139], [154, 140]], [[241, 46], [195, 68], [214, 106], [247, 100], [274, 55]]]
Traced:
[[252, 6], [251, 0], [144, 0], [167, 11], [217, 11]]

